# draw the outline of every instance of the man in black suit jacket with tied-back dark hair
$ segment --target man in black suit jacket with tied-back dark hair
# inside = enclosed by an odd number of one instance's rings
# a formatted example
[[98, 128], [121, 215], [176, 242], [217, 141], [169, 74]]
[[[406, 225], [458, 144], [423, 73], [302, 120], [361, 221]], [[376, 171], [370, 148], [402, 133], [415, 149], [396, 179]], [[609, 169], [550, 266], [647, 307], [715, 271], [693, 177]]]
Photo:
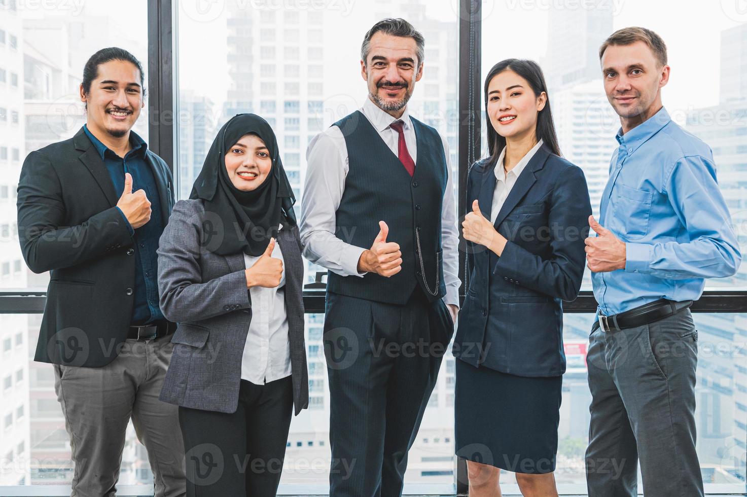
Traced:
[[132, 419], [155, 496], [185, 495], [176, 406], [158, 401], [175, 328], [158, 307], [158, 238], [171, 173], [131, 128], [143, 70], [123, 49], [96, 52], [81, 83], [87, 124], [26, 158], [18, 185], [21, 249], [50, 271], [34, 359], [52, 362], [70, 436], [72, 496], [116, 494]]

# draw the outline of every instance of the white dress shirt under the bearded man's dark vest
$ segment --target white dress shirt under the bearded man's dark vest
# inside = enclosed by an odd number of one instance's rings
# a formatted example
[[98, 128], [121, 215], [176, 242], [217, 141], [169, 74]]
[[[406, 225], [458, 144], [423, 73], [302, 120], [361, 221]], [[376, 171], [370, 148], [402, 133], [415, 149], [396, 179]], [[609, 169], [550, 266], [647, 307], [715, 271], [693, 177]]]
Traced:
[[[398, 155], [399, 134], [389, 125], [397, 120], [403, 121], [407, 150], [412, 160], [417, 163], [418, 146], [415, 130], [412, 129], [412, 122], [406, 107], [400, 119], [395, 119], [367, 98], [360, 111], [368, 118], [394, 155]], [[443, 267], [446, 285], [444, 302], [459, 306], [459, 232], [456, 227], [456, 201], [449, 148], [443, 136], [441, 136], [441, 143], [444, 146], [447, 169], [446, 191], [443, 209], [441, 209], [441, 248], [444, 251]], [[303, 255], [311, 262], [341, 276], [362, 277], [365, 273], [359, 273], [358, 260], [361, 254], [371, 247], [356, 247], [335, 236], [335, 212], [340, 206], [349, 167], [345, 138], [337, 126], [330, 126], [311, 140], [309, 148], [306, 149], [306, 161], [308, 167], [306, 168], [300, 219]], [[382, 178], [382, 181], [387, 180]], [[379, 220], [371, 219], [369, 222], [378, 223]], [[406, 271], [405, 268], [403, 270]]]

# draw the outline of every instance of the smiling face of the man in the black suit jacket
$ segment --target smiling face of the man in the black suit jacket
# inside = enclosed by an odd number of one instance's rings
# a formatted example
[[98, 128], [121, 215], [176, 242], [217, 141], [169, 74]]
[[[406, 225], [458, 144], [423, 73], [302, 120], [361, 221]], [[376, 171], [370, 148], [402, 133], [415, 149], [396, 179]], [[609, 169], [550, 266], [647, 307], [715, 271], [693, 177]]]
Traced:
[[143, 108], [143, 87], [140, 70], [128, 61], [108, 61], [99, 64], [98, 74], [91, 81], [90, 91], [81, 101], [87, 106], [87, 126], [96, 134], [108, 133], [114, 138], [127, 135]]

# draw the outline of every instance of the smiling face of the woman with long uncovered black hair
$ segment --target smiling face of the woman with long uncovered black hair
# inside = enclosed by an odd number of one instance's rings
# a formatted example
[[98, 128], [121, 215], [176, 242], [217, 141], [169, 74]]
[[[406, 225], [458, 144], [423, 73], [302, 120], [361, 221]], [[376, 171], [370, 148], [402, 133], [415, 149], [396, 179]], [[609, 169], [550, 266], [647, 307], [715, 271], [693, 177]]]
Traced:
[[535, 96], [526, 79], [510, 69], [499, 72], [488, 84], [488, 115], [493, 129], [506, 140], [534, 134], [537, 114], [545, 108], [547, 95]]

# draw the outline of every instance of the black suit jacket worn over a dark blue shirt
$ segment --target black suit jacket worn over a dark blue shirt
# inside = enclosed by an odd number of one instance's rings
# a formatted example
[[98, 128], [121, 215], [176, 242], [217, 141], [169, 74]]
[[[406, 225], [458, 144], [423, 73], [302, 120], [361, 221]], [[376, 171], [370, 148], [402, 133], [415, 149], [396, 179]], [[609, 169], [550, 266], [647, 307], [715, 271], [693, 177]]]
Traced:
[[[164, 226], [174, 205], [166, 163], [150, 150]], [[26, 264], [50, 271], [34, 359], [101, 367], [127, 338], [134, 303], [134, 241], [116, 208], [101, 156], [81, 128], [26, 157], [18, 183], [18, 232]]]

